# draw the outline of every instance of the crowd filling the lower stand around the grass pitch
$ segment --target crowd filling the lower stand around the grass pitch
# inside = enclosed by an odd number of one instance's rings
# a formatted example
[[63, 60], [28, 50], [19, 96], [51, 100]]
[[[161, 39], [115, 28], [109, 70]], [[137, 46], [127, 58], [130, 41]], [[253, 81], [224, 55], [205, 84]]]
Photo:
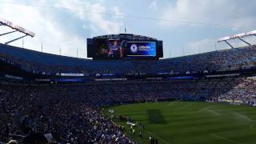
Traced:
[[73, 85], [0, 85], [0, 142], [27, 130], [52, 134], [61, 143], [133, 143], [109, 118], [102, 105], [158, 102], [167, 99], [256, 102], [255, 78]]

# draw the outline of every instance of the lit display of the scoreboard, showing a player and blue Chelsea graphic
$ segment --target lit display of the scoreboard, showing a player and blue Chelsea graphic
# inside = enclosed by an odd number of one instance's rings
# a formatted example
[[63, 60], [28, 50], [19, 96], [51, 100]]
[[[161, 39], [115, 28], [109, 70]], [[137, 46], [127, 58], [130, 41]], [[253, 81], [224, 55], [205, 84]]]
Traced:
[[94, 39], [95, 57], [99, 59], [155, 58], [156, 42]]

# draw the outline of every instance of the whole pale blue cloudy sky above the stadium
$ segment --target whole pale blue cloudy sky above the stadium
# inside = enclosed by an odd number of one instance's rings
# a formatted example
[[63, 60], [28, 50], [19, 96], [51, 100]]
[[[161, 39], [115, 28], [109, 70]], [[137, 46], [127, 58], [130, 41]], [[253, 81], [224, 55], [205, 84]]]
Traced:
[[[36, 33], [35, 38], [24, 38], [30, 50], [41, 51], [42, 45], [43, 52], [60, 54], [61, 49], [71, 57], [78, 50], [78, 57], [86, 58], [86, 38], [123, 33], [126, 27], [127, 33], [163, 40], [164, 58], [169, 58], [213, 51], [217, 38], [255, 30], [255, 6], [250, 0], [0, 0], [0, 18]], [[0, 33], [8, 30], [0, 27]], [[19, 35], [1, 37], [0, 42]], [[245, 39], [256, 43], [256, 37]], [[22, 46], [22, 40], [11, 45]], [[226, 48], [217, 44], [217, 50]]]

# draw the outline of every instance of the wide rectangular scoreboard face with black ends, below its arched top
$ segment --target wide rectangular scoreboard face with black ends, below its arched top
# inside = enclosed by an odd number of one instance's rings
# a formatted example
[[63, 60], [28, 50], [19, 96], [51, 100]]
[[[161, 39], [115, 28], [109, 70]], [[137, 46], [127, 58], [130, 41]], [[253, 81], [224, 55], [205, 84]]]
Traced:
[[94, 59], [159, 59], [162, 41], [87, 38], [87, 57]]

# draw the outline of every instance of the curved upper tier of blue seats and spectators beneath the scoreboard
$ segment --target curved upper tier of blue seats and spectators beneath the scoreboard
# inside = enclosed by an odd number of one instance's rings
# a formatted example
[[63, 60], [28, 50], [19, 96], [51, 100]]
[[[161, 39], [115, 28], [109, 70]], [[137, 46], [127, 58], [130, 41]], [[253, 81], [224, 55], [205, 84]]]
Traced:
[[197, 72], [254, 66], [256, 62], [256, 46], [218, 50], [179, 58], [166, 58], [160, 61], [92, 61], [82, 58], [45, 54], [2, 44], [0, 44], [0, 47], [1, 60], [17, 64], [17, 66], [25, 70], [38, 73], [45, 72], [46, 74], [60, 72], [83, 74], [164, 73], [171, 71]]

